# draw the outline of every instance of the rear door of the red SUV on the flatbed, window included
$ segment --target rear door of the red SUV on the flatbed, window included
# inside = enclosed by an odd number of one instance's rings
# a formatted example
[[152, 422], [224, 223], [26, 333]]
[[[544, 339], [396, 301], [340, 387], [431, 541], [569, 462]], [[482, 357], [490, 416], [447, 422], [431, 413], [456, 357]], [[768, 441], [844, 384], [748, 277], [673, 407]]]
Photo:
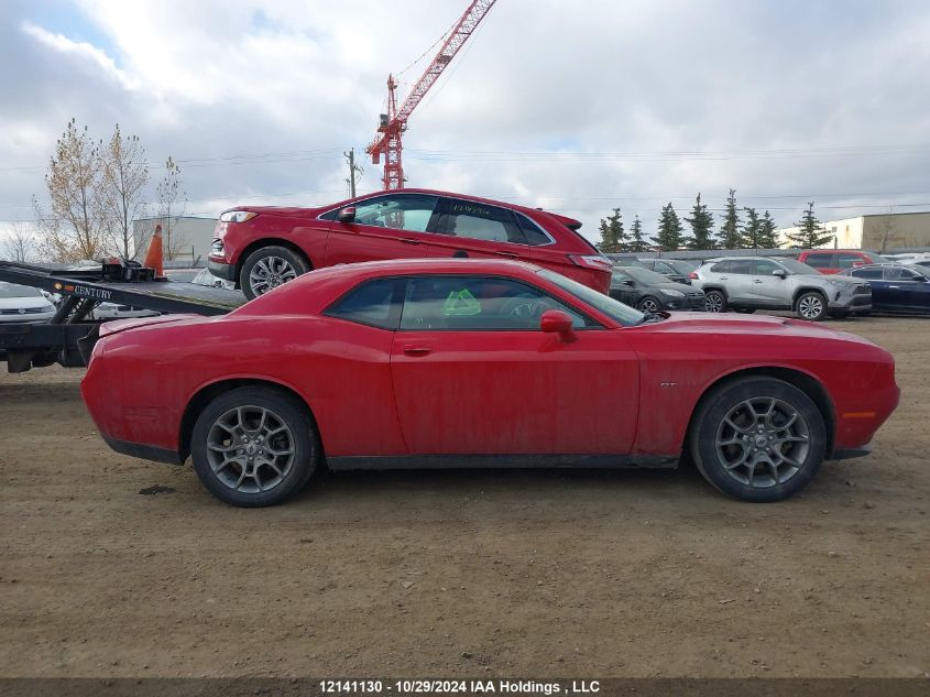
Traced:
[[513, 211], [461, 198], [439, 203], [428, 257], [526, 260], [528, 246]]

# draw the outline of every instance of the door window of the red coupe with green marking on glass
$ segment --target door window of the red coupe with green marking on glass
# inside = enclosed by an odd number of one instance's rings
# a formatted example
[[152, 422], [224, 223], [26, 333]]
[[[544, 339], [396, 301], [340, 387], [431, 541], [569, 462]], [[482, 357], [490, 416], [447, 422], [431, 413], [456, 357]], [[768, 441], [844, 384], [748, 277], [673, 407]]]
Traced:
[[543, 291], [495, 276], [419, 276], [407, 284], [401, 330], [538, 330], [547, 309], [560, 309], [572, 326], [595, 326]]

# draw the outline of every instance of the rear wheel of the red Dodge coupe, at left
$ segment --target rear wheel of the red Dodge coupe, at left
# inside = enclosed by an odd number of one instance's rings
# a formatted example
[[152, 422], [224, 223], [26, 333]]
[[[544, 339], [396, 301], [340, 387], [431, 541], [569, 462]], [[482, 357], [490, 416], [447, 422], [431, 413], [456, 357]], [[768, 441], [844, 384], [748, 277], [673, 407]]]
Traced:
[[[247, 435], [243, 442], [242, 434], [237, 436], [232, 431], [218, 425], [225, 415], [238, 407], [244, 407], [238, 416], [239, 423], [243, 415], [248, 423], [250, 415], [264, 410], [269, 415], [261, 423], [266, 426], [266, 429], [285, 426], [287, 431], [283, 432], [284, 435], [280, 432], [265, 439], [259, 437], [258, 429], [243, 429], [247, 434], [255, 434], [251, 437]], [[248, 425], [254, 426], [254, 418], [253, 416], [252, 423]], [[287, 438], [282, 440], [285, 436]], [[234, 460], [241, 460], [241, 462], [233, 461], [233, 458], [228, 458], [209, 447], [210, 443], [216, 443], [218, 437], [227, 439], [227, 443], [220, 445], [230, 449], [236, 446], [234, 455], [238, 457]], [[285, 457], [282, 460], [278, 459], [282, 456], [272, 455], [275, 465], [267, 464], [265, 448], [271, 453], [270, 444], [282, 451], [289, 447], [293, 451], [291, 458]], [[250, 447], [251, 450], [245, 451]], [[273, 388], [238, 388], [221, 394], [203, 411], [190, 437], [194, 471], [197, 472], [203, 484], [219, 500], [244, 508], [275, 505], [303, 489], [316, 469], [319, 453], [319, 436], [306, 405], [294, 396]], [[254, 460], [251, 456], [254, 456]], [[220, 458], [228, 462], [217, 468], [217, 460]], [[282, 467], [284, 470], [278, 476], [277, 468]], [[243, 468], [251, 468], [247, 472], [252, 471], [255, 476], [250, 473], [242, 476]], [[242, 482], [241, 490], [232, 486], [231, 480], [237, 478]], [[272, 486], [261, 490], [262, 483]], [[250, 489], [259, 489], [259, 491], [250, 491]]]

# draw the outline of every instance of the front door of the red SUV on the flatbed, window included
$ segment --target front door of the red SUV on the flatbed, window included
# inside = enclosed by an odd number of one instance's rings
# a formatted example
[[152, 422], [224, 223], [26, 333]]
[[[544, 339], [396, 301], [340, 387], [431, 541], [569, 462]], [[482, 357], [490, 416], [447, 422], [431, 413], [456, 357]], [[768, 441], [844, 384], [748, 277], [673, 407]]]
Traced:
[[354, 203], [351, 222], [332, 220], [326, 265], [426, 257], [438, 196], [385, 194]]

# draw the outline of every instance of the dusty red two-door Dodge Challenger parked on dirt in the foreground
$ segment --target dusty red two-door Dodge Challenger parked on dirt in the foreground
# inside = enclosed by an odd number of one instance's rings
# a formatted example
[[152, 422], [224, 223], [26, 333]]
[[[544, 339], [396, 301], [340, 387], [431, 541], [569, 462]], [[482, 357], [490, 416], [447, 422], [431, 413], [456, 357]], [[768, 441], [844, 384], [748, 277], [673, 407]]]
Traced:
[[675, 467], [778, 501], [867, 453], [898, 403], [877, 346], [779, 317], [643, 314], [513, 261], [322, 269], [219, 318], [100, 329], [84, 399], [110, 446], [236, 505], [332, 470]]

